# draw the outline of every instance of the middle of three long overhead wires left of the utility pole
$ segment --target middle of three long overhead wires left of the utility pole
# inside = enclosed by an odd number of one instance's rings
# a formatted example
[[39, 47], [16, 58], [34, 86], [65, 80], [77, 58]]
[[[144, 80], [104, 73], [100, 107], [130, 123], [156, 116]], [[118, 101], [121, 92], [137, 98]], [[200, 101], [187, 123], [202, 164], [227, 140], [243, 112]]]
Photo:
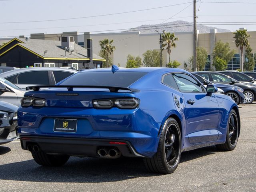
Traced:
[[[192, 16], [186, 17], [175, 17], [172, 19], [179, 19], [179, 18], [188, 18]], [[26, 29], [0, 29], [0, 31], [14, 31], [14, 30], [34, 30], [34, 29], [56, 29], [56, 28], [72, 28], [72, 27], [88, 27], [88, 26], [102, 26], [102, 25], [113, 25], [113, 24], [126, 24], [126, 23], [138, 23], [138, 22], [148, 22], [148, 21], [159, 21], [159, 20], [168, 20], [170, 18], [164, 19], [154, 19], [154, 20], [143, 20], [143, 21], [132, 21], [132, 22], [119, 22], [119, 23], [107, 23], [107, 24], [93, 24], [93, 25], [80, 25], [80, 26], [63, 26], [63, 27], [49, 27], [49, 28], [26, 28]]]

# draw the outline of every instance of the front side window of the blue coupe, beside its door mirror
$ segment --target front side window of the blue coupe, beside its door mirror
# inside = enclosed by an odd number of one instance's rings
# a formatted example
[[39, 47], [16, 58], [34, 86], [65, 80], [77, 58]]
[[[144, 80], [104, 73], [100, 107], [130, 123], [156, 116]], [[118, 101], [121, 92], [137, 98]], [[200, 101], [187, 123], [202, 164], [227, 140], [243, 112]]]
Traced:
[[203, 88], [199, 82], [187, 74], [176, 73], [173, 74], [178, 88], [181, 92], [203, 92]]

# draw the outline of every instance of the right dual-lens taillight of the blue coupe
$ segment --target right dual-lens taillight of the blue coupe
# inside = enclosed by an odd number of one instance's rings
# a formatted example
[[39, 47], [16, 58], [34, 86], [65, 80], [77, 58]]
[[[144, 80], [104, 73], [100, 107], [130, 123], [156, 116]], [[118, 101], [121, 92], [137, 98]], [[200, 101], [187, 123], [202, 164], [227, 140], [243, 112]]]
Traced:
[[134, 109], [137, 108], [140, 104], [140, 100], [137, 98], [122, 98], [122, 99], [98, 99], [93, 100], [94, 108], [126, 108], [126, 109]]

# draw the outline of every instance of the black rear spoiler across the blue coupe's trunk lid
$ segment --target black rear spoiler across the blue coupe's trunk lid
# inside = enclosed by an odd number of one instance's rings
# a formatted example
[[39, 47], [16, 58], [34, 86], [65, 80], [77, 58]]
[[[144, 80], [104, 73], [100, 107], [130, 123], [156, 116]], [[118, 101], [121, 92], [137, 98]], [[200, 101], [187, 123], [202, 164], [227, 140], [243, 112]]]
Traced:
[[38, 85], [26, 87], [26, 90], [38, 91], [40, 88], [67, 88], [68, 91], [73, 91], [73, 88], [107, 88], [110, 92], [118, 92], [118, 90], [129, 90], [131, 92], [138, 92], [140, 90], [130, 87], [112, 87], [112, 86], [80, 86], [80, 85]]

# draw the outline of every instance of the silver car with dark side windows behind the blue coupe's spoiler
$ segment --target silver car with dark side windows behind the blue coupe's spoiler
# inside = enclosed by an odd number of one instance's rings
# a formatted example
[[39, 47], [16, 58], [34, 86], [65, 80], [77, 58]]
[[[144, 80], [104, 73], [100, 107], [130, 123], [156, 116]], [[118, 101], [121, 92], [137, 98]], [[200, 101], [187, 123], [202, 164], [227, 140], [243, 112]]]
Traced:
[[24, 89], [33, 85], [54, 85], [76, 72], [58, 67], [32, 67], [4, 72], [0, 76]]

